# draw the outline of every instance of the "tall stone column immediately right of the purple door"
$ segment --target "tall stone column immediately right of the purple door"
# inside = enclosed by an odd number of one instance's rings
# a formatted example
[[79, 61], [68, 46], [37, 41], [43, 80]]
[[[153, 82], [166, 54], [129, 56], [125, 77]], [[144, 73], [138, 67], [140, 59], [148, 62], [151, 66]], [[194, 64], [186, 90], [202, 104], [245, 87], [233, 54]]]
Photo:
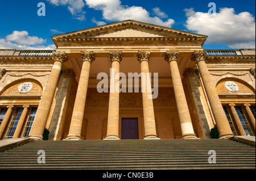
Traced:
[[[150, 59], [150, 52], [138, 51], [138, 61], [141, 63], [141, 83], [144, 90], [142, 90], [143, 101], [143, 117], [144, 117], [144, 139], [159, 139], [156, 135], [155, 113], [151, 92], [151, 80], [149, 75], [148, 61]], [[143, 78], [144, 76], [144, 78]], [[150, 88], [148, 90], [147, 88]]]

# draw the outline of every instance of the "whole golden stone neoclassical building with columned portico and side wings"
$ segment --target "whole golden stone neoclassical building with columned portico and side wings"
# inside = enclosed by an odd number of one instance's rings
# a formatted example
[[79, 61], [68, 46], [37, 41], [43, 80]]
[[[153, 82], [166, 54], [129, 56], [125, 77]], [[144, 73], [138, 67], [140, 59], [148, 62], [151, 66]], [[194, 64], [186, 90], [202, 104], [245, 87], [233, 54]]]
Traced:
[[204, 50], [205, 35], [134, 20], [52, 39], [0, 50], [1, 140], [255, 136], [255, 49]]

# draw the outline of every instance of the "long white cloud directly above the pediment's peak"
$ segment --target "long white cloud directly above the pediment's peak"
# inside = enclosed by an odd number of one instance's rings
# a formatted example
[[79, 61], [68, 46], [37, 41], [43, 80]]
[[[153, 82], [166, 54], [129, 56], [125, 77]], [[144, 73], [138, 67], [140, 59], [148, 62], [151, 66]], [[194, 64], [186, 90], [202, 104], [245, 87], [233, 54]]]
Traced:
[[173, 19], [163, 21], [164, 12], [160, 11], [160, 18], [158, 16], [150, 17], [147, 10], [140, 6], [122, 6], [121, 0], [85, 0], [86, 5], [94, 10], [102, 11], [102, 18], [108, 21], [122, 21], [122, 20], [138, 20], [145, 23], [157, 24], [159, 26], [171, 27], [174, 24]]

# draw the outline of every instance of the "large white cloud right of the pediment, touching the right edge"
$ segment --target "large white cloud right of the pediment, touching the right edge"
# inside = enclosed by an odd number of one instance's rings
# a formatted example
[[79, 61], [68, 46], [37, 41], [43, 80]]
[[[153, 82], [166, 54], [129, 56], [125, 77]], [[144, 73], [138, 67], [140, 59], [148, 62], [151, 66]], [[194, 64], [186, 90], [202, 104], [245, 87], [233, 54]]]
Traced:
[[188, 30], [208, 35], [208, 43], [223, 43], [230, 48], [255, 48], [255, 19], [249, 12], [236, 14], [233, 8], [221, 8], [210, 15], [185, 9]]

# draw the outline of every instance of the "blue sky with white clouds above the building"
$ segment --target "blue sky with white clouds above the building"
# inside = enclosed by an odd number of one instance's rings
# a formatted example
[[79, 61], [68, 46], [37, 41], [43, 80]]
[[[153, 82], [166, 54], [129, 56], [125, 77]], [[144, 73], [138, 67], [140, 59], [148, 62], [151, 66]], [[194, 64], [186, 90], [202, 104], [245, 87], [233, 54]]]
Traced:
[[0, 17], [0, 49], [55, 49], [53, 35], [126, 19], [208, 35], [205, 49], [255, 48], [254, 0], [1, 0]]

